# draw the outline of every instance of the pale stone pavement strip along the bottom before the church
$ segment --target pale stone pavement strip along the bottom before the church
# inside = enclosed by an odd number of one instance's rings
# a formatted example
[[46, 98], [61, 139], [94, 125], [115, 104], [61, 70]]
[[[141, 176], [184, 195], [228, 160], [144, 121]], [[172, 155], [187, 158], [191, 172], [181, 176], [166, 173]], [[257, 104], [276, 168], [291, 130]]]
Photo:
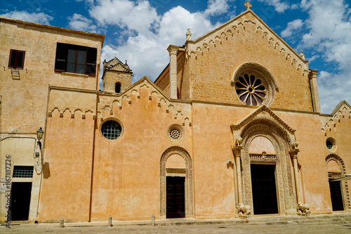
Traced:
[[191, 225], [191, 226], [74, 226], [59, 228], [57, 224], [20, 224], [0, 233], [351, 233], [350, 224], [288, 224], [279, 226]]

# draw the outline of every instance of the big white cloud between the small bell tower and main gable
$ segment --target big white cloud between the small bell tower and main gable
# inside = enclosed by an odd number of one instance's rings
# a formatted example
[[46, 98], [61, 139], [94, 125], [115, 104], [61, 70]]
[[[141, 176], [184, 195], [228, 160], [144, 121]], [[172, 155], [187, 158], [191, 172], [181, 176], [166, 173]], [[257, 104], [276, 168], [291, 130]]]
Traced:
[[133, 81], [143, 76], [154, 81], [169, 62], [168, 45], [182, 46], [187, 28], [191, 29], [193, 39], [210, 31], [216, 25], [211, 24], [209, 17], [225, 13], [227, 9], [227, 1], [211, 0], [203, 12], [190, 13], [177, 6], [158, 15], [148, 1], [98, 0], [89, 13], [101, 25], [122, 29], [117, 36], [119, 46], [105, 44], [102, 60], [113, 57], [128, 60], [134, 73]]

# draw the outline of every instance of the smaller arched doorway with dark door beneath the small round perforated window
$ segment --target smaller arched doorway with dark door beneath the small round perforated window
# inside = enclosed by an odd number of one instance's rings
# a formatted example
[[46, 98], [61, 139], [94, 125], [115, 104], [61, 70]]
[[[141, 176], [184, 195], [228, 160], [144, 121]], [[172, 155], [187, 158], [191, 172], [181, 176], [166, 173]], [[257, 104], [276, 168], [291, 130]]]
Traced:
[[166, 149], [160, 160], [160, 219], [193, 216], [192, 180], [190, 154], [179, 146]]

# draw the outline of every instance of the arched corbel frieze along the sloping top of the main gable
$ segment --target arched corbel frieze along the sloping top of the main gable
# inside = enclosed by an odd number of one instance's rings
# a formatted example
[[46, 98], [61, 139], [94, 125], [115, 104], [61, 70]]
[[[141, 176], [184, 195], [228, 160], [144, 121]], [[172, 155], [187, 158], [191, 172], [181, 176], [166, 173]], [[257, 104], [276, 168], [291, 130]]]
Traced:
[[291, 64], [295, 64], [297, 69], [301, 69], [304, 73], [308, 73], [308, 61], [305, 60], [304, 55], [300, 56], [296, 53], [288, 43], [280, 38], [278, 34], [270, 29], [270, 27], [268, 27], [265, 22], [263, 22], [263, 20], [251, 10], [244, 11], [244, 13], [237, 15], [237, 17], [225, 22], [223, 25], [220, 25], [203, 36], [200, 36], [198, 39], [187, 41], [187, 56], [196, 57], [197, 51], [208, 49], [210, 43], [216, 44], [217, 41], [222, 43], [223, 38], [230, 34], [234, 35], [244, 31], [245, 27], [248, 25], [255, 25], [256, 32], [261, 31], [263, 38], [267, 39], [267, 43], [272, 43], [274, 49], [279, 49], [279, 52], [284, 53], [286, 60], [291, 60]]

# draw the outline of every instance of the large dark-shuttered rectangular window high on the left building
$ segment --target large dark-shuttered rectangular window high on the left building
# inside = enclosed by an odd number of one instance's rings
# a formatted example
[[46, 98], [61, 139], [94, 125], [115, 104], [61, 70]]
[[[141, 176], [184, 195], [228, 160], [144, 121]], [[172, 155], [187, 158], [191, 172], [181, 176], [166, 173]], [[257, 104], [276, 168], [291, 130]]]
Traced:
[[95, 76], [97, 49], [58, 43], [55, 71]]

